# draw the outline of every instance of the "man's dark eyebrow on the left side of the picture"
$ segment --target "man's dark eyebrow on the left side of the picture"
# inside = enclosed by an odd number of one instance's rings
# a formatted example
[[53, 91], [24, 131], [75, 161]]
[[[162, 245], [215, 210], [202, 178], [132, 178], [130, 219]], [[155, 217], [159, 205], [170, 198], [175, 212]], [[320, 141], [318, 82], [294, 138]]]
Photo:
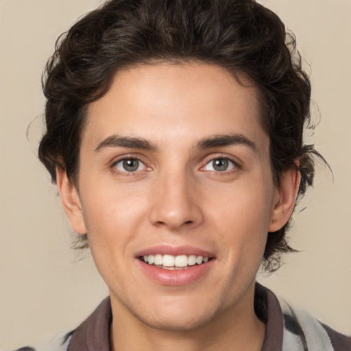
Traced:
[[101, 152], [107, 147], [128, 147], [130, 149], [143, 149], [148, 151], [156, 151], [156, 146], [150, 141], [147, 141], [144, 138], [135, 138], [128, 136], [119, 136], [117, 134], [108, 136], [108, 138], [101, 141], [95, 152]]

